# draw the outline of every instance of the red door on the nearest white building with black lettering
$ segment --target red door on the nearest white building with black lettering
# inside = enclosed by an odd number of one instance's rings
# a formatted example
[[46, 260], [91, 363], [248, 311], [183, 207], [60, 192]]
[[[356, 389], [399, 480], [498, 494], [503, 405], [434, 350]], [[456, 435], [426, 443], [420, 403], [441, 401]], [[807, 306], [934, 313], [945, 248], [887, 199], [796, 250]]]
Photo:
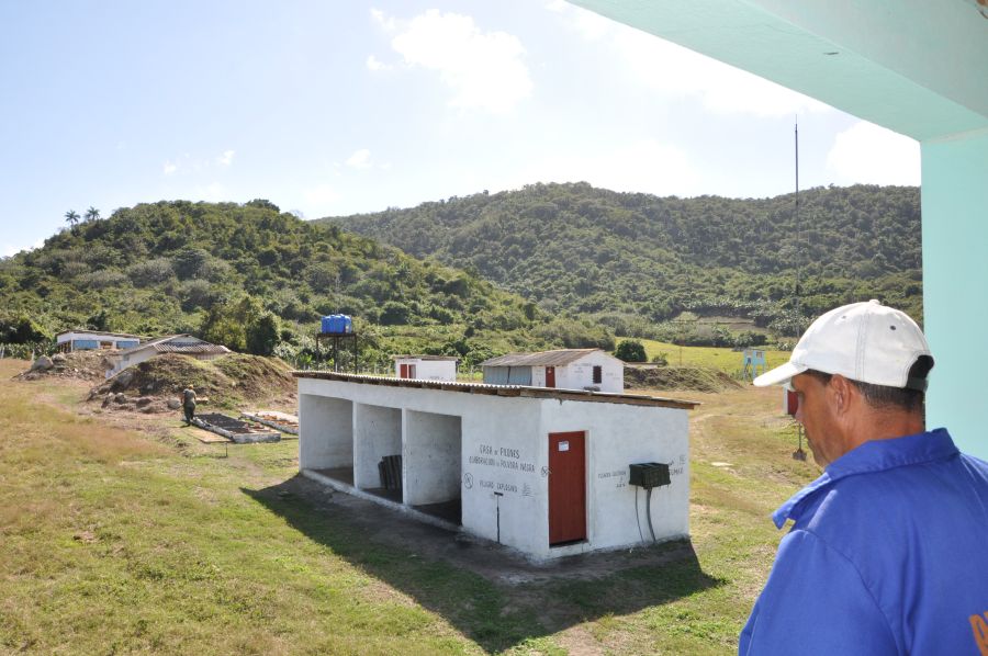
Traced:
[[584, 434], [549, 433], [549, 544], [586, 540]]

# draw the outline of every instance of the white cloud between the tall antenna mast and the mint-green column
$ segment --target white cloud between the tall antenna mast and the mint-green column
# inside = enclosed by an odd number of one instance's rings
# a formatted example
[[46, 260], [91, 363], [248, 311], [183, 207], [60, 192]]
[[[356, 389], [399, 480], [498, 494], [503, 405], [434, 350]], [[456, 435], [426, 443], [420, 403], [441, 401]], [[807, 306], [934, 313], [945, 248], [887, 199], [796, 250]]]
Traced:
[[834, 137], [827, 168], [839, 184], [913, 184], [921, 178], [920, 146], [909, 137], [860, 121]]

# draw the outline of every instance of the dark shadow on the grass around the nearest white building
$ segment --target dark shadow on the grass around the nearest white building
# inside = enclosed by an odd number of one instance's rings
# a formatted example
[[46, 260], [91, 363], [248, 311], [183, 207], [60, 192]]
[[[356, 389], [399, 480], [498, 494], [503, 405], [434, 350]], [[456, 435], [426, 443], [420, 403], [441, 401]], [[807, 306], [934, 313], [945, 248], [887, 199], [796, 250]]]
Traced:
[[242, 488], [295, 530], [441, 615], [487, 652], [723, 585], [688, 541], [532, 564], [296, 475]]

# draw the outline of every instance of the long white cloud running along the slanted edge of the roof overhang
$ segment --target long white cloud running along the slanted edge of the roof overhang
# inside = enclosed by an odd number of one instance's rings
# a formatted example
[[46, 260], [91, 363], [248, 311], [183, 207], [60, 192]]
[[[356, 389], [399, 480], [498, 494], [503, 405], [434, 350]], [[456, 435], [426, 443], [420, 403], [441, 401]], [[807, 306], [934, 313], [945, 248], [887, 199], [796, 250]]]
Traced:
[[621, 56], [625, 71], [672, 99], [698, 100], [715, 114], [778, 117], [831, 108], [807, 95], [728, 66], [689, 48], [568, 5], [562, 12], [586, 41], [604, 41]]

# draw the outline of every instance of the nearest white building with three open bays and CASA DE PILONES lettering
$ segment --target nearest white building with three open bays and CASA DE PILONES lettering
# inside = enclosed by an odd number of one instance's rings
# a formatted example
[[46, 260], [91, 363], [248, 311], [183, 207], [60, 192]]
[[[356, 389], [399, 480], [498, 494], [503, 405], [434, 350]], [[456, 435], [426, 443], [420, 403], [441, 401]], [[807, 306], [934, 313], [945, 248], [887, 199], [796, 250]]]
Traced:
[[[693, 401], [294, 375], [300, 470], [337, 489], [546, 559], [650, 541], [645, 493], [629, 485], [629, 465], [665, 463], [670, 484], [651, 501], [655, 536], [689, 533]], [[401, 484], [389, 489], [395, 456]]]

